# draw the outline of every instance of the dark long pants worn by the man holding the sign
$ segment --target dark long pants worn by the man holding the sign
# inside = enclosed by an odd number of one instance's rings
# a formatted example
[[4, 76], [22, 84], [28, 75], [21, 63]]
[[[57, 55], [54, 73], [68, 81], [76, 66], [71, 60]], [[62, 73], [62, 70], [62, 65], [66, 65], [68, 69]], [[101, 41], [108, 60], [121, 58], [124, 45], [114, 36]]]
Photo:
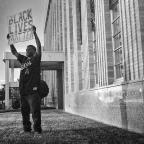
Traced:
[[21, 97], [21, 113], [24, 131], [31, 131], [30, 111], [34, 131], [41, 132], [41, 98], [38, 93]]

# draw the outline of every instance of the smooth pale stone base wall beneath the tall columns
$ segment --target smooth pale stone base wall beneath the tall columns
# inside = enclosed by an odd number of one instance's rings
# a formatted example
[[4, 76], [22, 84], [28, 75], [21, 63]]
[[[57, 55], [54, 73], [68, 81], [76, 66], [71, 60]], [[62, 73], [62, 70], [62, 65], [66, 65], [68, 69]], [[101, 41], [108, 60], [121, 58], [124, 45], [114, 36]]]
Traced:
[[65, 109], [109, 125], [144, 132], [143, 82], [110, 85], [67, 95]]

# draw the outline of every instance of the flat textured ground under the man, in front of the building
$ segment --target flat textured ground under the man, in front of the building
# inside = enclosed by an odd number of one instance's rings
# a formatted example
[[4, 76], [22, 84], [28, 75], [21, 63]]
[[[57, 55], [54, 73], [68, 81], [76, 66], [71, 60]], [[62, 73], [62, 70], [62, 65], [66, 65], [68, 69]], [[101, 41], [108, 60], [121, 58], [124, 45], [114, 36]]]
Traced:
[[144, 144], [144, 135], [58, 110], [42, 110], [41, 137], [21, 134], [20, 112], [0, 113], [0, 144]]

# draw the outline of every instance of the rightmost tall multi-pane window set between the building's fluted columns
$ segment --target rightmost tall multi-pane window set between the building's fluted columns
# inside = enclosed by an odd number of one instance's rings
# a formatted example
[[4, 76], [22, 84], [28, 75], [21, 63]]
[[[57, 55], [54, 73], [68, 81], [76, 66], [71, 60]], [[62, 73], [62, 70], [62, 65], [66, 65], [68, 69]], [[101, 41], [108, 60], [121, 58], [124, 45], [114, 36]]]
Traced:
[[113, 38], [113, 50], [114, 50], [114, 69], [116, 79], [122, 77], [123, 65], [122, 65], [122, 38], [121, 38], [121, 24], [120, 24], [120, 12], [119, 1], [113, 0], [111, 2], [112, 10], [112, 38]]

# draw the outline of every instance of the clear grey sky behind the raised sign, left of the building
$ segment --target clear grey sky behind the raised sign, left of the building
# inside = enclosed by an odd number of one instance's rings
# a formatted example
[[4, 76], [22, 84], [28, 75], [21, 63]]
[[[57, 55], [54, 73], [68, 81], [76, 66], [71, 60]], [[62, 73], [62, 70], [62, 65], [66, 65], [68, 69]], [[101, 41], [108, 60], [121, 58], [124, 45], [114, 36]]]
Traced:
[[[0, 84], [5, 82], [5, 64], [3, 55], [5, 51], [10, 51], [6, 36], [8, 34], [8, 18], [23, 10], [32, 9], [33, 24], [37, 28], [37, 34], [44, 45], [44, 2], [47, 0], [0, 0]], [[23, 52], [28, 44], [35, 41], [16, 43], [18, 52]], [[15, 80], [19, 77], [19, 70], [15, 70]]]

